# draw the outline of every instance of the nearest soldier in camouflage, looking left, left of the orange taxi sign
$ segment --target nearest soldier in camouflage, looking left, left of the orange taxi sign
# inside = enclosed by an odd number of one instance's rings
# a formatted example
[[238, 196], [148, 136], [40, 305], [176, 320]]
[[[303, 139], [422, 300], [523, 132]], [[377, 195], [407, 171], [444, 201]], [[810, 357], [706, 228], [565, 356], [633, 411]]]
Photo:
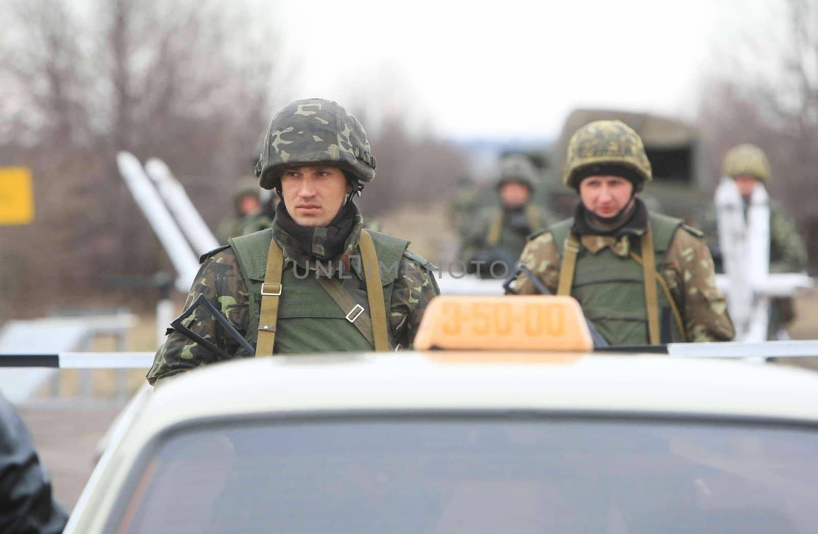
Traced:
[[[299, 100], [279, 111], [256, 167], [261, 187], [282, 199], [272, 229], [206, 254], [187, 305], [205, 295], [257, 356], [411, 346], [438, 294], [434, 266], [406, 240], [362, 230], [352, 199], [375, 178], [370, 150], [361, 123], [335, 102]], [[204, 307], [185, 325], [231, 358], [249, 355]], [[171, 331], [147, 378], [222, 359]]]

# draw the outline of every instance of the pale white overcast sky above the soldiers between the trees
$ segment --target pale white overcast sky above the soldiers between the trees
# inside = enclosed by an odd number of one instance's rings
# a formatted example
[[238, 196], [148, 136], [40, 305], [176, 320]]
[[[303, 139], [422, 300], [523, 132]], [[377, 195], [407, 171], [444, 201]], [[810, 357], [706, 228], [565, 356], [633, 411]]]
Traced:
[[366, 102], [457, 138], [549, 138], [578, 106], [691, 116], [714, 43], [748, 5], [285, 1], [281, 99]]

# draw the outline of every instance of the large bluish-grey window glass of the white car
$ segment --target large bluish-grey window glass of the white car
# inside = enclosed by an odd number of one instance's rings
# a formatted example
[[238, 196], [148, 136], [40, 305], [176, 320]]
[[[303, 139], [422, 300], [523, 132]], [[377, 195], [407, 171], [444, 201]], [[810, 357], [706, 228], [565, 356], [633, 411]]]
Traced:
[[816, 496], [807, 428], [271, 420], [162, 441], [115, 532], [814, 532]]

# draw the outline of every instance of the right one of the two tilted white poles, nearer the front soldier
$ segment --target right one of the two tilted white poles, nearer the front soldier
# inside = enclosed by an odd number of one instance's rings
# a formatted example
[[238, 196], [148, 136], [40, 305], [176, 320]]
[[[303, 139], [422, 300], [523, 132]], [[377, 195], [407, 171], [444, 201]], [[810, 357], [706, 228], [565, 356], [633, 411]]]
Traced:
[[156, 188], [159, 189], [160, 195], [173, 217], [176, 218], [179, 228], [190, 240], [196, 254], [201, 256], [218, 247], [218, 241], [199, 215], [196, 206], [193, 206], [182, 183], [179, 183], [170, 172], [168, 165], [162, 160], [151, 158], [145, 164], [145, 170], [156, 184]]

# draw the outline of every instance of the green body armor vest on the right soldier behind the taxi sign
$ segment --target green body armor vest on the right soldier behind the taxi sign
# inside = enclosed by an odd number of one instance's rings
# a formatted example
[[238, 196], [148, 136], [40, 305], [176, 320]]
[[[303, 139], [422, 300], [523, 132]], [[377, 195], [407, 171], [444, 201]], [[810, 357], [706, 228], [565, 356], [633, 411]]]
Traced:
[[[682, 221], [649, 213], [653, 233], [657, 276], [662, 276], [667, 250]], [[573, 219], [552, 224], [551, 234], [562, 262], [566, 238]], [[639, 247], [631, 239], [631, 250]], [[641, 252], [636, 248], [636, 254]], [[657, 284], [659, 285], [659, 284]], [[645, 278], [642, 266], [631, 257], [617, 256], [610, 247], [592, 254], [581, 247], [577, 256], [571, 296], [579, 301], [582, 312], [611, 345], [642, 345], [649, 343], [648, 313], [645, 305]], [[684, 336], [673, 317], [670, 303], [661, 287], [657, 288], [659, 333], [661, 342], [681, 342]]]

